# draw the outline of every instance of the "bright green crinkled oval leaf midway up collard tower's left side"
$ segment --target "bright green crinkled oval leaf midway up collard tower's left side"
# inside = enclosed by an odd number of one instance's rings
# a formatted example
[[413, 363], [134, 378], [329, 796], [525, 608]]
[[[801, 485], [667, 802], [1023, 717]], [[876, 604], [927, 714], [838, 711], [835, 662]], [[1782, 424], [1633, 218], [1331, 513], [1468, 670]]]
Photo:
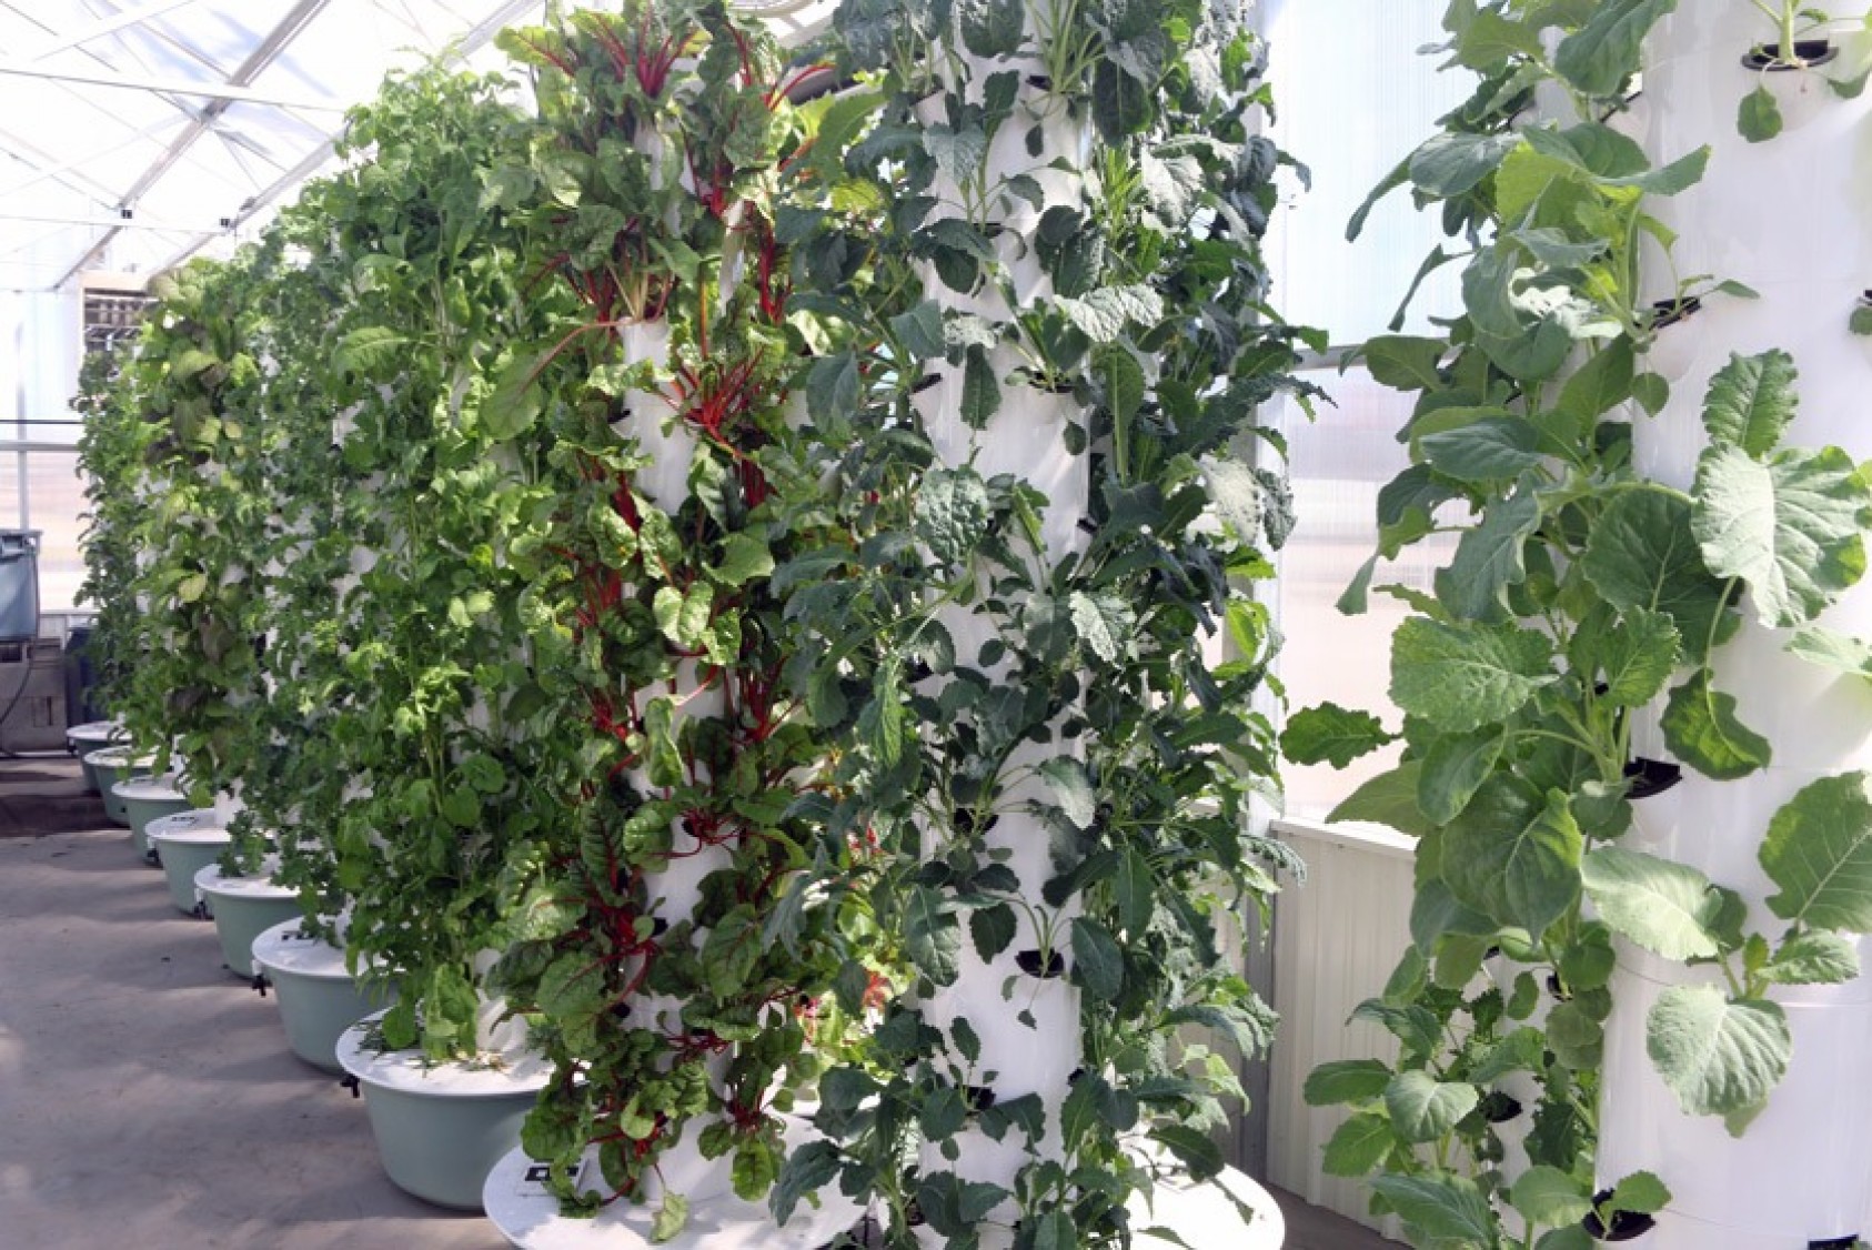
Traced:
[[1507, 720], [1546, 685], [1552, 642], [1513, 625], [1410, 618], [1391, 640], [1391, 700], [1449, 732]]

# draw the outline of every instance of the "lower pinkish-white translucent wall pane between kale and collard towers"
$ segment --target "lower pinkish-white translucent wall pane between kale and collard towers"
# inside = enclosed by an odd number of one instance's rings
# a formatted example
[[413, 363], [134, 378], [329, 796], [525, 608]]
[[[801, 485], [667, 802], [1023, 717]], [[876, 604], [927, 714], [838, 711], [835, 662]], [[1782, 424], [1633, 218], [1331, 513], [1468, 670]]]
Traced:
[[[1391, 707], [1391, 631], [1408, 608], [1391, 595], [1372, 593], [1363, 616], [1335, 606], [1378, 546], [1378, 490], [1410, 464], [1397, 430], [1410, 415], [1411, 397], [1372, 382], [1365, 371], [1346, 376], [1314, 374], [1337, 400], [1309, 423], [1286, 402], [1280, 427], [1288, 436], [1288, 472], [1299, 524], [1280, 552], [1275, 580], [1277, 612], [1286, 644], [1280, 679], [1297, 711], [1322, 702], [1378, 713], [1387, 728], [1402, 715]], [[1380, 561], [1372, 586], [1404, 584], [1430, 589], [1436, 569], [1449, 561], [1453, 537], [1432, 537], [1406, 548], [1397, 561]], [[1368, 777], [1397, 762], [1397, 749], [1357, 760], [1348, 769], [1329, 763], [1288, 767], [1290, 816], [1325, 816]]]

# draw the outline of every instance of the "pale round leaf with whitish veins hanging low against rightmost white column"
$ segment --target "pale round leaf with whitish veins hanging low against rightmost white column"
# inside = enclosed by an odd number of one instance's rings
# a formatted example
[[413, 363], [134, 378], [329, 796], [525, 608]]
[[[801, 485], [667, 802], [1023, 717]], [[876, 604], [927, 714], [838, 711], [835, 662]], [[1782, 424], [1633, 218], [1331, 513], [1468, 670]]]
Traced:
[[1788, 1070], [1793, 1035], [1778, 1003], [1672, 986], [1645, 1018], [1645, 1052], [1689, 1115], [1760, 1108]]

